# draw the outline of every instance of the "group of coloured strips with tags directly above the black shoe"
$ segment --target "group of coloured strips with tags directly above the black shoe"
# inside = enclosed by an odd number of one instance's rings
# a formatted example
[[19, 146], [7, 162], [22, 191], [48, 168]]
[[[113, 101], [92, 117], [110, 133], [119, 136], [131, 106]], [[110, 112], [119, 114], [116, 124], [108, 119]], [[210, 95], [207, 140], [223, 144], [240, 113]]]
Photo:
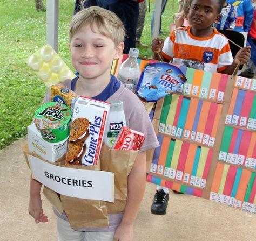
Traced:
[[[178, 139], [158, 135], [151, 172], [205, 188], [213, 150]], [[189, 153], [189, 154], [188, 154]]]

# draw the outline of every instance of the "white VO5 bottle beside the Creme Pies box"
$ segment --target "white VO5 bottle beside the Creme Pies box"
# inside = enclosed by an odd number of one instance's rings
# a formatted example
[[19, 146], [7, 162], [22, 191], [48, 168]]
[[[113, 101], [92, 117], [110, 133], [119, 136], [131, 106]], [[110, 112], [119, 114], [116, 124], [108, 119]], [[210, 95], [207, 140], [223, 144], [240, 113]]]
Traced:
[[104, 133], [104, 142], [112, 148], [118, 132], [122, 126], [126, 126], [123, 101], [110, 101], [109, 115], [106, 121], [106, 130]]

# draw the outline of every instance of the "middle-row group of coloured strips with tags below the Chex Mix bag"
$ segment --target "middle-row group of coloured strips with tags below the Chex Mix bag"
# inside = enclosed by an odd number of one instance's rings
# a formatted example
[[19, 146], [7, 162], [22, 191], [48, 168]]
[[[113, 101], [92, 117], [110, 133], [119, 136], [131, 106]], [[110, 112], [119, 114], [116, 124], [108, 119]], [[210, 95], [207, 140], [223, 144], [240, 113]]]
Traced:
[[223, 105], [172, 94], [164, 98], [159, 133], [214, 146]]

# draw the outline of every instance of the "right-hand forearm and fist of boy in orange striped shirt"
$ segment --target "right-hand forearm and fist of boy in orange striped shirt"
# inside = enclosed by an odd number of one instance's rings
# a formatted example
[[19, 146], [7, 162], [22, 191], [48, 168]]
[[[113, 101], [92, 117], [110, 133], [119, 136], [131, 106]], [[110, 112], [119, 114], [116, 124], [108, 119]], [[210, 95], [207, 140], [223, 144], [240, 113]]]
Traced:
[[235, 55], [235, 58], [233, 60], [232, 65], [228, 66], [225, 70], [223, 70], [221, 73], [223, 74], [230, 74], [235, 75], [237, 72], [234, 73], [235, 68], [237, 68], [237, 65], [244, 65], [248, 60], [251, 58], [251, 46], [246, 46], [244, 48], [241, 48], [237, 55]]

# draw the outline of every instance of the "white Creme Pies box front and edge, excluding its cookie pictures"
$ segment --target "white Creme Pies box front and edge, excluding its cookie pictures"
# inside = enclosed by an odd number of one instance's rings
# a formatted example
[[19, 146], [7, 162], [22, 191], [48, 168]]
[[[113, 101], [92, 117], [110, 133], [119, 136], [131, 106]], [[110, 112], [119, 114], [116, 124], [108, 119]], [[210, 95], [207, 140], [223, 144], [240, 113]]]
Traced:
[[89, 136], [85, 139], [86, 149], [81, 158], [84, 166], [96, 165], [98, 162], [109, 109], [110, 103], [82, 96], [75, 103], [72, 122], [77, 118], [86, 118], [91, 123]]

